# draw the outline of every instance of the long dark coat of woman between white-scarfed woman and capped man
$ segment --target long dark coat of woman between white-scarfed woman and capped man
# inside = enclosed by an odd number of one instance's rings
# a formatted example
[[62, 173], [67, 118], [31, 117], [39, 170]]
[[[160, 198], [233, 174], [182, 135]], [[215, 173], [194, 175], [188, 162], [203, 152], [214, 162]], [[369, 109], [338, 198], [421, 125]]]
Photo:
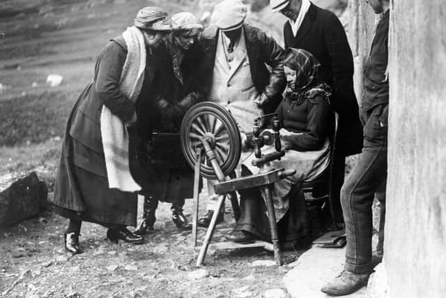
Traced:
[[[155, 54], [160, 67], [151, 88], [153, 98], [148, 106], [139, 109], [141, 113], [152, 113], [144, 136], [149, 149], [144, 148], [139, 156], [145, 180], [141, 181], [141, 194], [162, 202], [192, 198], [194, 186], [194, 172], [185, 161], [179, 135], [186, 109], [179, 108], [178, 103], [185, 98], [191, 104], [199, 100], [197, 70], [203, 59], [203, 50], [198, 42], [189, 50], [181, 50], [183, 59], [177, 71], [181, 73], [182, 82], [174, 71], [173, 56], [176, 51], [178, 45], [174, 43], [172, 35], [157, 46]], [[159, 100], [166, 100], [168, 104], [160, 107], [157, 104]]]

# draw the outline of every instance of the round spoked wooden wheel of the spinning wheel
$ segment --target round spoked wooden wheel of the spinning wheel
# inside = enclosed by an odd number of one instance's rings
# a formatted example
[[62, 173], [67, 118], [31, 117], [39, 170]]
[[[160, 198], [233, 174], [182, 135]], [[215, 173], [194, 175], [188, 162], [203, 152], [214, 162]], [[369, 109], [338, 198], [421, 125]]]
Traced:
[[[236, 168], [241, 154], [240, 131], [231, 114], [217, 103], [194, 105], [181, 124], [181, 148], [191, 167], [195, 166], [196, 148], [208, 142], [225, 176]], [[201, 176], [217, 179], [206, 154], [202, 154]]]

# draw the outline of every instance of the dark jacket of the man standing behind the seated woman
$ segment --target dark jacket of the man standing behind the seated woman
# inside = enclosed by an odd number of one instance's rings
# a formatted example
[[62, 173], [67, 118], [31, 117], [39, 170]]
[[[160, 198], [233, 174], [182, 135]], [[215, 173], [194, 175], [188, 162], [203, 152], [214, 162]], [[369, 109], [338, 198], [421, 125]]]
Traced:
[[285, 48], [312, 53], [321, 63], [319, 78], [332, 86], [332, 105], [339, 113], [339, 149], [346, 156], [362, 149], [362, 125], [353, 90], [353, 56], [344, 27], [329, 10], [309, 7], [296, 36], [284, 25]]

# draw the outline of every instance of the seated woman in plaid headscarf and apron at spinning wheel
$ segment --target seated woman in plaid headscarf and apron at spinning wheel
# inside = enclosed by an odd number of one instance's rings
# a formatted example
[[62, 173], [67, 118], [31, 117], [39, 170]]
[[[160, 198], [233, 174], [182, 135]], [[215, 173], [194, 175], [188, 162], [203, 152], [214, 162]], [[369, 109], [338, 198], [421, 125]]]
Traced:
[[[284, 61], [287, 88], [285, 98], [277, 108], [282, 127], [280, 140], [286, 154], [280, 161], [273, 161], [272, 166], [295, 169], [296, 173], [276, 182], [272, 190], [282, 245], [302, 247], [311, 241], [307, 207], [299, 184], [317, 177], [330, 163], [330, 87], [318, 81], [319, 68], [321, 64], [309, 52], [287, 50]], [[262, 148], [263, 154], [272, 151], [275, 151], [272, 146]], [[250, 156], [243, 162], [242, 176], [259, 171], [251, 165], [253, 158]], [[226, 238], [240, 243], [270, 240], [266, 206], [259, 200], [259, 189], [249, 188], [239, 193], [242, 215]]]

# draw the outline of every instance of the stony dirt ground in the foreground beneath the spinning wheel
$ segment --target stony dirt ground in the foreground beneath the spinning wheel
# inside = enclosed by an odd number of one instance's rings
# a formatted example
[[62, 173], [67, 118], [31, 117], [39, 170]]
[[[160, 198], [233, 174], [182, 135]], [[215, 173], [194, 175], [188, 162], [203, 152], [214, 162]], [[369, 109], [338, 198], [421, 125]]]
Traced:
[[[190, 232], [172, 223], [169, 207], [160, 204], [155, 231], [139, 246], [112, 244], [105, 228], [84, 223], [80, 239], [85, 252], [73, 257], [63, 250], [66, 219], [51, 212], [0, 230], [0, 297], [262, 297], [266, 290], [284, 288], [282, 278], [290, 268], [251, 266], [255, 260], [273, 259], [263, 248], [211, 248], [203, 267], [208, 277], [190, 277], [197, 253]], [[187, 200], [186, 214], [191, 207]], [[215, 241], [231, 230], [231, 214], [225, 218]], [[199, 239], [204, 233], [200, 228]], [[284, 253], [284, 264], [301, 253]]]

